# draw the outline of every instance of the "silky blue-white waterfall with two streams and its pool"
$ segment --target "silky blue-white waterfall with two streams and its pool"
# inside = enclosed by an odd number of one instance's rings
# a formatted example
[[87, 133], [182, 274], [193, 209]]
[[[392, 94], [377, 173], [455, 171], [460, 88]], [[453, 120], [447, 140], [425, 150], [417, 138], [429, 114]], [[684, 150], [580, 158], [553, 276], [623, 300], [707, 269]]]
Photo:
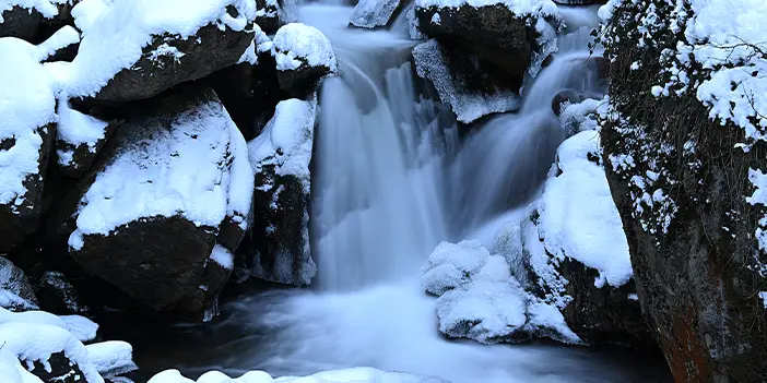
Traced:
[[[436, 299], [418, 283], [439, 241], [487, 242], [536, 195], [565, 139], [553, 96], [566, 87], [603, 87], [587, 62], [588, 29], [573, 27], [560, 38], [559, 53], [526, 86], [519, 112], [489, 118], [459, 139], [449, 110], [424, 97], [428, 91], [414, 79], [416, 43], [402, 31], [347, 28], [351, 12], [300, 9], [302, 21], [332, 41], [343, 73], [320, 94], [311, 201], [316, 288], [240, 298], [225, 304], [214, 324], [177, 330], [178, 339], [194, 346], [179, 351], [165, 334], [151, 358], [143, 356], [192, 375], [369, 366], [456, 383], [665, 381], [657, 360], [625, 352], [449, 342], [437, 332]], [[567, 12], [575, 24], [593, 21], [593, 10]]]

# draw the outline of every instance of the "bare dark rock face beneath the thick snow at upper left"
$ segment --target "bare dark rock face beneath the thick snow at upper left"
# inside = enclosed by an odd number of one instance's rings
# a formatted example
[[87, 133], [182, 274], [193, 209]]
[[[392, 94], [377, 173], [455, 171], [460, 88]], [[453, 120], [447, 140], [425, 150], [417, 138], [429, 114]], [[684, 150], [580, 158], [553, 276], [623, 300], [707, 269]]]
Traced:
[[[174, 85], [205, 77], [237, 63], [252, 40], [251, 26], [243, 32], [228, 28], [222, 32], [213, 24], [187, 38], [153, 36], [141, 58], [118, 72], [94, 98], [114, 104], [156, 96]], [[175, 56], [170, 52], [174, 49], [184, 56]]]

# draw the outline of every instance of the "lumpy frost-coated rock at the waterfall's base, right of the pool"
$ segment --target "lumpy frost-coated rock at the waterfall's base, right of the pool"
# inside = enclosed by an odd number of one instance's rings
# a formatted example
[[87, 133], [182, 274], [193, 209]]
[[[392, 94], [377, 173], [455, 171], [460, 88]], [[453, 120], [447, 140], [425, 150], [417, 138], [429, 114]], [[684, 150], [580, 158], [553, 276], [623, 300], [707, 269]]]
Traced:
[[504, 255], [491, 255], [479, 241], [440, 243], [423, 267], [423, 287], [439, 296], [439, 331], [485, 344], [518, 343], [533, 336], [565, 343], [580, 339], [556, 307], [546, 309], [527, 292]]

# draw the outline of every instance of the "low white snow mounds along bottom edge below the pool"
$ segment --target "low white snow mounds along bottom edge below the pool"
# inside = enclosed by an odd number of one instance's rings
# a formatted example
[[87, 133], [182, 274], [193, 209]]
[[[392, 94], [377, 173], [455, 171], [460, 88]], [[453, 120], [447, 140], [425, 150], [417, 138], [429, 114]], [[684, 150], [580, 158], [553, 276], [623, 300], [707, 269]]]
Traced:
[[346, 370], [323, 371], [310, 376], [272, 378], [263, 371], [250, 371], [239, 378], [229, 378], [222, 372], [204, 373], [197, 381], [184, 378], [178, 370], [163, 371], [148, 383], [447, 383], [439, 378], [421, 376], [399, 372], [386, 372], [361, 367]]

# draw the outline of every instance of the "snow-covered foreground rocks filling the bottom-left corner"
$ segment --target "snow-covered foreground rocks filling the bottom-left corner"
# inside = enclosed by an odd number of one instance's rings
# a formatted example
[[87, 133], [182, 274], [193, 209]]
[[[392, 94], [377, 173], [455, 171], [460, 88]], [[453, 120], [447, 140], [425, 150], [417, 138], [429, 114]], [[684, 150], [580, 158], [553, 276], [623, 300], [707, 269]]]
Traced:
[[3, 383], [104, 383], [137, 369], [125, 342], [83, 345], [98, 325], [44, 311], [13, 313], [0, 308], [0, 378]]

